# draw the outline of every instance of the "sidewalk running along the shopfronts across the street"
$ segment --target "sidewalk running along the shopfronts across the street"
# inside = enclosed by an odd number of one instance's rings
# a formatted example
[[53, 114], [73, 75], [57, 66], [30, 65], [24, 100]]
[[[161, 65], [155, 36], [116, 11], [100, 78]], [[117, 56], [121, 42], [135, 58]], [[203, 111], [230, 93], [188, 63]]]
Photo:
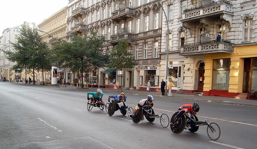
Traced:
[[[22, 84], [22, 83], [19, 83]], [[33, 84], [22, 84], [22, 85], [33, 85]], [[56, 87], [52, 85], [48, 85], [49, 87]], [[62, 84], [60, 85], [62, 86]], [[59, 87], [62, 88], [69, 88], [69, 89], [78, 89], [78, 90], [85, 90], [86, 92], [96, 92], [97, 88], [76, 88], [74, 85], [67, 85], [67, 87]], [[117, 94], [118, 89], [114, 88], [101, 88], [104, 93], [108, 92], [115, 92]], [[119, 89], [121, 92], [121, 89]], [[199, 96], [199, 95], [190, 95], [190, 94], [181, 94], [181, 93], [172, 93], [172, 96], [162, 96], [161, 92], [147, 92], [141, 90], [126, 90], [124, 89], [123, 92], [125, 94], [134, 94], [134, 95], [148, 95], [151, 94], [153, 96], [160, 96], [165, 98], [176, 98], [176, 99], [185, 99], [185, 100], [199, 100], [199, 101], [208, 101], [208, 102], [219, 102], [219, 103], [227, 103], [227, 104], [239, 104], [245, 106], [257, 106], [257, 100], [249, 100], [249, 99], [237, 99], [237, 98], [227, 98], [227, 97], [217, 97], [217, 96]]]

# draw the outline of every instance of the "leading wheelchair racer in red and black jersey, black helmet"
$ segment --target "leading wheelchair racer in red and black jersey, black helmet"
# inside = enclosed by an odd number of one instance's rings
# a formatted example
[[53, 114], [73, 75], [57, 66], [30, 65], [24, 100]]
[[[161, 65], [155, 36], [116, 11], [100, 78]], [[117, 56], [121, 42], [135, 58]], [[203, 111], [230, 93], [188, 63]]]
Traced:
[[173, 122], [170, 123], [172, 127], [174, 127], [174, 124], [178, 121], [181, 116], [183, 116], [185, 113], [191, 113], [195, 114], [200, 109], [199, 105], [194, 102], [193, 104], [184, 104], [181, 107], [178, 108], [179, 113], [175, 116]]

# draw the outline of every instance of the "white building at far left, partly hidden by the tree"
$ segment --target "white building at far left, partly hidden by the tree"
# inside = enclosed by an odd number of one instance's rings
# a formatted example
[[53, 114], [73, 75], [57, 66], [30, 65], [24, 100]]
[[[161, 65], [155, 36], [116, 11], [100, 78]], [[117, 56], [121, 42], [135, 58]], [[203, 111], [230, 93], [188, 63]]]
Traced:
[[[27, 23], [24, 22], [24, 24], [29, 25], [29, 27], [33, 28], [36, 27], [35, 23]], [[12, 70], [12, 66], [15, 65], [15, 63], [9, 61], [3, 53], [3, 51], [14, 51], [11, 43], [15, 43], [15, 35], [19, 34], [19, 29], [21, 28], [21, 25], [7, 28], [3, 30], [3, 35], [1, 36], [1, 45], [0, 45], [0, 71], [1, 71], [1, 77], [5, 77], [7, 81], [13, 80], [14, 78], [21, 79], [22, 77], [25, 77], [21, 74], [19, 70]]]

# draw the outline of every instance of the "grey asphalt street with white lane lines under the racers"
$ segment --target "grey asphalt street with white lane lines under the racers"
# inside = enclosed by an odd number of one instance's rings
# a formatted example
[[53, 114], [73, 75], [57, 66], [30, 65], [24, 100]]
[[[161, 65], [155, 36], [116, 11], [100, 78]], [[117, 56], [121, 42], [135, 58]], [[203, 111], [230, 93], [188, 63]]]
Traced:
[[[256, 106], [197, 101], [199, 120], [219, 125], [221, 136], [211, 141], [207, 126], [196, 133], [184, 130], [175, 135], [170, 126], [162, 128], [160, 119], [146, 118], [134, 124], [119, 110], [109, 116], [97, 107], [87, 111], [87, 89], [22, 85], [0, 82], [0, 148], [256, 148]], [[118, 92], [104, 92], [108, 95]], [[133, 107], [146, 95], [127, 94], [126, 104]], [[156, 96], [154, 112], [169, 118], [183, 104], [193, 100]]]

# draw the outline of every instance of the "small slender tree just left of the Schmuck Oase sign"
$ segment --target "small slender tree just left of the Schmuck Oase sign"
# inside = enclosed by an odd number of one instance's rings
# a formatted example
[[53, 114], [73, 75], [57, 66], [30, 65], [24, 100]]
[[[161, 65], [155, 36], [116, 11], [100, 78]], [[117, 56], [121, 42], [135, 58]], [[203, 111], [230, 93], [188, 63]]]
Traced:
[[111, 54], [111, 63], [107, 65], [109, 68], [117, 68], [121, 71], [121, 91], [122, 88], [122, 80], [123, 80], [123, 69], [133, 68], [138, 63], [134, 62], [133, 54], [127, 51], [127, 47], [129, 46], [128, 40], [119, 41], [119, 43], [114, 47]]

